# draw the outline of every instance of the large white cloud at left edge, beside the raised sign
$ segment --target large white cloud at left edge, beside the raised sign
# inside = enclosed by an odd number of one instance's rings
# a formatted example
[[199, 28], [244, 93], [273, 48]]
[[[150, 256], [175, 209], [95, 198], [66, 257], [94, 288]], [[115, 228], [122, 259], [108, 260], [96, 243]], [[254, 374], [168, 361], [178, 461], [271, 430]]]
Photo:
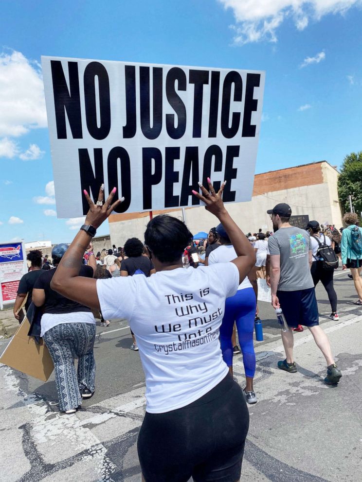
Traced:
[[41, 67], [21, 52], [0, 53], [0, 137], [47, 127]]

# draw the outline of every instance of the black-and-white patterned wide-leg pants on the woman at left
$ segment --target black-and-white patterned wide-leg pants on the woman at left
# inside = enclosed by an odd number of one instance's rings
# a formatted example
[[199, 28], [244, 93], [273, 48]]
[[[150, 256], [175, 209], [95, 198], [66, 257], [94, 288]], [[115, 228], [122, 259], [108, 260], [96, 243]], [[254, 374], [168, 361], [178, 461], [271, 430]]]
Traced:
[[[93, 345], [95, 325], [63, 323], [44, 333], [44, 342], [54, 362], [55, 384], [61, 412], [82, 404], [79, 389], [94, 392], [95, 361]], [[74, 357], [78, 357], [78, 373]]]

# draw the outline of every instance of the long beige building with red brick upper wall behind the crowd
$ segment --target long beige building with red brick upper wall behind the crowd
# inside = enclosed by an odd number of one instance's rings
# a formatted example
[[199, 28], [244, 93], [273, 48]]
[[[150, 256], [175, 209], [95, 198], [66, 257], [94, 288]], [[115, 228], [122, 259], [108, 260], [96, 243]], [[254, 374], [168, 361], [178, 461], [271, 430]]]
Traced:
[[[293, 215], [308, 215], [323, 224], [342, 226], [342, 213], [337, 191], [338, 171], [326, 161], [269, 171], [254, 176], [253, 197], [245, 203], [231, 203], [226, 207], [244, 232], [271, 230], [267, 209], [277, 203], [288, 203]], [[154, 211], [156, 216], [167, 212], [182, 219], [181, 209]], [[204, 207], [185, 209], [186, 223], [192, 233], [206, 231], [217, 224], [215, 216]], [[143, 241], [149, 213], [113, 214], [109, 217], [112, 244], [123, 246], [127, 238]]]

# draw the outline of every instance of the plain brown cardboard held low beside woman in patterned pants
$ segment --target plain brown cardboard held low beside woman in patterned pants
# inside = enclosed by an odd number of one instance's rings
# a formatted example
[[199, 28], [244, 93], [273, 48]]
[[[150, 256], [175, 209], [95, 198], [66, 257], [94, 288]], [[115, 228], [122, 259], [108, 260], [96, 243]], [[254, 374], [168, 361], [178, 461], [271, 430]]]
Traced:
[[33, 337], [28, 336], [29, 329], [29, 321], [24, 318], [1, 355], [0, 362], [38, 380], [47, 381], [54, 370], [52, 357], [43, 340], [37, 344]]

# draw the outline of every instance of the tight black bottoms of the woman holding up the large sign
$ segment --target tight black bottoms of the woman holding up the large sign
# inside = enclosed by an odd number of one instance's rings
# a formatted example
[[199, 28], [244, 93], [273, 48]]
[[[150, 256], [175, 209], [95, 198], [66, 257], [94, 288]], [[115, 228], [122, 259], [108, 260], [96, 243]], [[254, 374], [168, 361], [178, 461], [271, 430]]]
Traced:
[[238, 481], [248, 428], [245, 399], [230, 374], [185, 407], [146, 412], [137, 441], [145, 481]]

